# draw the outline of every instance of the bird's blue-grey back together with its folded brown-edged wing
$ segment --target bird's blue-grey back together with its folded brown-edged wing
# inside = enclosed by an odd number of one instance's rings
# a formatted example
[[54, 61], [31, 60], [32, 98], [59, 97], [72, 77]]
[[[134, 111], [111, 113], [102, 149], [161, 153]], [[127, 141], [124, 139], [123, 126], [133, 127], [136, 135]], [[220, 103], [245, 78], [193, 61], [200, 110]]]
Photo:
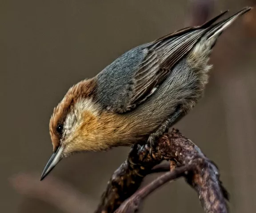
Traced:
[[121, 55], [96, 76], [98, 101], [117, 113], [143, 103], [224, 13], [201, 26], [181, 29]]

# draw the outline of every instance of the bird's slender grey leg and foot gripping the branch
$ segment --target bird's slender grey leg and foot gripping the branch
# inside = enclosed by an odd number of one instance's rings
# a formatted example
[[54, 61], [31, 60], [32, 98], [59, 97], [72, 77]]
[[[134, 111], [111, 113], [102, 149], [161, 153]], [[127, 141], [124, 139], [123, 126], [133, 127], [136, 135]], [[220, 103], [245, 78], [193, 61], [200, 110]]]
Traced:
[[168, 131], [169, 127], [172, 126], [174, 122], [177, 122], [179, 117], [182, 117], [181, 114], [183, 114], [183, 110], [178, 108], [167, 120], [165, 120], [159, 128], [156, 130], [156, 132], [152, 133], [148, 137], [148, 144], [152, 147], [156, 146], [157, 139], [163, 135], [166, 131]]

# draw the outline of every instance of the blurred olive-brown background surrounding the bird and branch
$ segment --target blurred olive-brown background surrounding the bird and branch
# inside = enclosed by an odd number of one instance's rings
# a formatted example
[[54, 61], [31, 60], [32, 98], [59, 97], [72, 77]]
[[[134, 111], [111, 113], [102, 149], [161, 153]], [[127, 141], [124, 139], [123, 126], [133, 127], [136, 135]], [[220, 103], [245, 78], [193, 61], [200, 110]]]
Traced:
[[[1, 0], [0, 206], [4, 213], [93, 212], [129, 148], [74, 155], [40, 182], [52, 154], [48, 122], [70, 86], [125, 51], [255, 0]], [[214, 48], [204, 99], [175, 127], [219, 166], [233, 213], [256, 209], [256, 11]], [[145, 183], [156, 175], [145, 178]], [[44, 185], [42, 185], [44, 183]], [[144, 183], [144, 184], [145, 184]], [[79, 205], [80, 203], [80, 205]], [[80, 208], [81, 206], [81, 208]], [[183, 179], [140, 212], [203, 213]]]

